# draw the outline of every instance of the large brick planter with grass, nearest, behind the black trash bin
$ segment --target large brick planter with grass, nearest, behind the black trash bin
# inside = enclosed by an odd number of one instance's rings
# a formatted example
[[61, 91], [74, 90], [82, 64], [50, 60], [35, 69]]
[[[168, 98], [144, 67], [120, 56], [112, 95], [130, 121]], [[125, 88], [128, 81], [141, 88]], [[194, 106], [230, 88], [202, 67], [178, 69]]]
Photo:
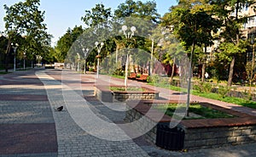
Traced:
[[[137, 124], [137, 128], [140, 132], [147, 130], [151, 123], [155, 123], [154, 128], [150, 129], [150, 131], [145, 134], [145, 137], [152, 143], [159, 143], [161, 138], [160, 130], [158, 129], [160, 127], [157, 127], [157, 125], [169, 126], [170, 121], [177, 120], [169, 115], [157, 118], [156, 115], [160, 115], [157, 113], [161, 112], [157, 106], [164, 106], [172, 103], [173, 102], [170, 101], [168, 102], [168, 100], [166, 100], [166, 102], [159, 101], [159, 103], [154, 100], [154, 109], [152, 109], [151, 105], [153, 102], [150, 103], [150, 101], [140, 102], [136, 105], [132, 103], [132, 101], [127, 102], [128, 110], [126, 111], [125, 121], [137, 121], [135, 124]], [[196, 106], [201, 109], [195, 110], [206, 112], [208, 109], [211, 110], [210, 115], [214, 115], [214, 117], [207, 118], [207, 115], [201, 115], [200, 118], [197, 116], [193, 118], [193, 115], [191, 115], [189, 118], [180, 119], [181, 121], [178, 121], [176, 128], [177, 130], [184, 132], [184, 137], [179, 138], [183, 139], [182, 148], [179, 149], [202, 149], [256, 142], [256, 119], [254, 116], [231, 109], [224, 109], [208, 103], [199, 103], [196, 104]], [[154, 114], [147, 114], [149, 109], [150, 113]], [[192, 110], [195, 111], [194, 109], [190, 109], [190, 111]], [[212, 112], [222, 114], [218, 115]], [[195, 115], [198, 114], [199, 113]], [[170, 136], [172, 136], [172, 134], [173, 132], [170, 133]], [[169, 143], [172, 143], [172, 139], [174, 138], [166, 136], [162, 140], [166, 139], [171, 139]]]

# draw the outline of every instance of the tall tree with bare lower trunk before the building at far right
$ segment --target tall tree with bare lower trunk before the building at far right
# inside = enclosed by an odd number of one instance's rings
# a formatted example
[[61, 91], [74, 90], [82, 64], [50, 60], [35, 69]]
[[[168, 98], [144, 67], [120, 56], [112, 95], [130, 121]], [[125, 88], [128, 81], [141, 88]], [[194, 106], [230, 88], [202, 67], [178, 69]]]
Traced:
[[[214, 6], [214, 15], [222, 22], [222, 33], [220, 38], [224, 40], [221, 44], [220, 55], [224, 55], [230, 59], [230, 72], [228, 79], [228, 86], [232, 85], [232, 78], [234, 73], [234, 66], [236, 63], [236, 56], [239, 53], [246, 52], [244, 42], [241, 40], [240, 28], [241, 25], [247, 22], [246, 16], [241, 16], [240, 10], [246, 5], [250, 5], [253, 1], [248, 0], [212, 0]], [[230, 49], [233, 51], [231, 52]]]

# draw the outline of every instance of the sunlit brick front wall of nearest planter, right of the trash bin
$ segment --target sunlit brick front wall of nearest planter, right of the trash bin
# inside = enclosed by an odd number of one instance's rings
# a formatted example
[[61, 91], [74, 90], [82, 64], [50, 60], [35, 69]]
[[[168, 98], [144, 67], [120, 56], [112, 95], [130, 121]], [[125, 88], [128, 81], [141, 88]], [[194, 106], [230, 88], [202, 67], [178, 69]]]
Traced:
[[186, 128], [184, 149], [202, 149], [256, 142], [256, 126]]

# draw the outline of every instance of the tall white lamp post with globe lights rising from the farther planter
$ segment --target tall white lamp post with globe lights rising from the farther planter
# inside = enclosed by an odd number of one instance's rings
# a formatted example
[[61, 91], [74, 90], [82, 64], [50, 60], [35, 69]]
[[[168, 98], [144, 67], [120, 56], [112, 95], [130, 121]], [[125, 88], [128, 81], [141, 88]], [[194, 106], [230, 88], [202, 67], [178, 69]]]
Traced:
[[[131, 32], [126, 33], [127, 30], [128, 30], [128, 27], [126, 25], [123, 25], [122, 31], [124, 32], [125, 38], [131, 39], [131, 37], [134, 36], [136, 27], [131, 26]], [[129, 52], [127, 53], [126, 62], [125, 62], [125, 88], [127, 87], [127, 84], [128, 84], [128, 66], [129, 66]]]

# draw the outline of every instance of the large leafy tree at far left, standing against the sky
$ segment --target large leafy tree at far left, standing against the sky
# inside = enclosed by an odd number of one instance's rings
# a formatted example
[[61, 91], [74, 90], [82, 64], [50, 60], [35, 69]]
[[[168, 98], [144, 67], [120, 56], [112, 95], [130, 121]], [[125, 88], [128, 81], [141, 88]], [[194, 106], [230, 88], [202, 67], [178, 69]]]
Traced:
[[[50, 37], [44, 24], [44, 12], [39, 8], [40, 0], [26, 0], [24, 3], [15, 3], [8, 7], [4, 5], [6, 16], [4, 17], [6, 33], [9, 36], [8, 47], [6, 49], [6, 67], [8, 71], [8, 56], [11, 42], [17, 40], [17, 36], [24, 36], [23, 45], [20, 50], [26, 54], [44, 53], [44, 46], [50, 44]], [[30, 55], [32, 56], [32, 55]]]

